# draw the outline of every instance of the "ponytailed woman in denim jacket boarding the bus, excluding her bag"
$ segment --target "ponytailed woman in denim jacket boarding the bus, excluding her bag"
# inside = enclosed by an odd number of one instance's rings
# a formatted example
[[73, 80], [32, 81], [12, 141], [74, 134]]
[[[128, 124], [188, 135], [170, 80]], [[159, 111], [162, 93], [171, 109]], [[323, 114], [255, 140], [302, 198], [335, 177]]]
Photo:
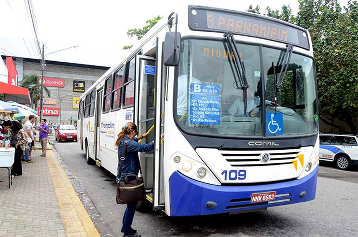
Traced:
[[[138, 139], [142, 139], [146, 137], [147, 134], [144, 133], [143, 135], [137, 136], [137, 126], [132, 123], [128, 122], [125, 126], [122, 127], [121, 132], [117, 136], [116, 146], [118, 147], [118, 167], [117, 167], [117, 183], [118, 180], [124, 180], [127, 175], [135, 174], [138, 175], [139, 173], [139, 157], [138, 152], [146, 152], [151, 151], [154, 148], [154, 141], [150, 142], [149, 144], [139, 143]], [[136, 137], [137, 136], [137, 137]], [[122, 168], [122, 173], [118, 174], [119, 167], [121, 163], [121, 156], [122, 156], [122, 149], [124, 146], [124, 142], [127, 142], [126, 152], [125, 152], [125, 160]], [[128, 177], [129, 180], [134, 177]], [[134, 178], [135, 179], [135, 178]], [[122, 229], [124, 237], [141, 237], [140, 234], [136, 234], [137, 231], [132, 228], [132, 222], [134, 219], [135, 209], [137, 207], [138, 202], [127, 203], [126, 211], [124, 212], [123, 219], [122, 219]]]

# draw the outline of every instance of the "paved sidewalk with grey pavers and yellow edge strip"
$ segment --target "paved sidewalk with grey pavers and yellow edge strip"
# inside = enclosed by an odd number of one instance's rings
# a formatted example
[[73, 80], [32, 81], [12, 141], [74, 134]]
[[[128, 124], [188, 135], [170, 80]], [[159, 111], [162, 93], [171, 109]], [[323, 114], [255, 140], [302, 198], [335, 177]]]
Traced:
[[22, 163], [10, 189], [8, 170], [0, 169], [0, 236], [100, 236], [51, 146], [41, 154], [32, 151], [35, 163]]

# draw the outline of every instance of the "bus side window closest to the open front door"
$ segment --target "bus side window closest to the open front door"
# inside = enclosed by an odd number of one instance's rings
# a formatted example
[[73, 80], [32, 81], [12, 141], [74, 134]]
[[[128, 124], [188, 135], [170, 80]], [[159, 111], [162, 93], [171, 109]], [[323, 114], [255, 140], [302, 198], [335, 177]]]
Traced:
[[126, 81], [124, 84], [124, 107], [134, 105], [135, 58], [126, 65]]

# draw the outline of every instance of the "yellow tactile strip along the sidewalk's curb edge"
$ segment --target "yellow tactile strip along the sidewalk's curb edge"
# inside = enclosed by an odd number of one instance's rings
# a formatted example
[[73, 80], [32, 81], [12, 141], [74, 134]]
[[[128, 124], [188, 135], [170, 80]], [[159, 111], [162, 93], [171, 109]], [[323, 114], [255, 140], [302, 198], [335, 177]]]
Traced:
[[52, 151], [47, 151], [46, 160], [66, 236], [100, 236]]

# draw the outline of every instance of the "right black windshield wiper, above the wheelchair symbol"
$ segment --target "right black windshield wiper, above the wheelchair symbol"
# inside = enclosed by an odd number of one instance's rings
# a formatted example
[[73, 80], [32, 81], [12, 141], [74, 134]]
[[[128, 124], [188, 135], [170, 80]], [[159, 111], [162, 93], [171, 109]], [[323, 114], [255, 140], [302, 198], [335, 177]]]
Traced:
[[[287, 68], [289, 67], [289, 63], [290, 63], [291, 55], [292, 55], [292, 51], [293, 51], [293, 44], [287, 44], [286, 46], [287, 46], [287, 49], [286, 49], [285, 57], [284, 58], [282, 57], [283, 51], [281, 51], [279, 60], [277, 61], [277, 64], [276, 64], [277, 67], [281, 66], [281, 71], [280, 71], [278, 78], [276, 76], [274, 62], [272, 62], [272, 68], [274, 69], [274, 83], [275, 83], [275, 113], [276, 113], [276, 108], [277, 108], [277, 94], [279, 93], [279, 90], [282, 86], [282, 82], [284, 82]], [[279, 65], [279, 63], [280, 63], [280, 65]], [[282, 74], [282, 72], [283, 72], [283, 74]], [[281, 77], [281, 75], [282, 75], [282, 77]]]

